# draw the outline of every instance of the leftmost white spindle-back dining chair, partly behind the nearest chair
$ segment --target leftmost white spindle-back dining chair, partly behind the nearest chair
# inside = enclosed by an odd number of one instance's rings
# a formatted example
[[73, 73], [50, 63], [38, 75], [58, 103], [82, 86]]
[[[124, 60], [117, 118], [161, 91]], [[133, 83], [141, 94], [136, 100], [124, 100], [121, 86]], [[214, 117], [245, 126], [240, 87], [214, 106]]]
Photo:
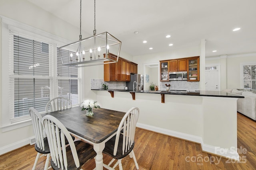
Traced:
[[44, 170], [47, 170], [48, 165], [49, 165], [49, 160], [50, 160], [50, 148], [48, 145], [47, 137], [46, 136], [44, 137], [42, 116], [33, 107], [29, 108], [28, 112], [29, 112], [31, 120], [32, 120], [32, 126], [33, 126], [33, 130], [34, 130], [35, 138], [36, 138], [35, 150], [38, 152], [36, 155], [36, 160], [34, 162], [34, 166], [33, 166], [32, 170], [36, 169], [36, 164], [38, 162], [38, 159], [41, 156], [44, 156], [44, 154], [47, 154], [46, 161], [44, 164]]

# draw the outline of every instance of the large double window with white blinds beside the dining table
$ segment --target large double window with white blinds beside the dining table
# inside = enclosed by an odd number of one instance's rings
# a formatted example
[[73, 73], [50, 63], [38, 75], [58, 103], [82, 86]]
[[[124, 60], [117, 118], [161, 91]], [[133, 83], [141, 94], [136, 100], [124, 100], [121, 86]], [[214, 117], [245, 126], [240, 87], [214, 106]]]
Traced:
[[[79, 103], [78, 68], [62, 66], [57, 48], [54, 56], [52, 44], [15, 33], [11, 33], [11, 39], [13, 59], [10, 65], [13, 63], [13, 71], [10, 71], [10, 94], [14, 95], [10, 106], [10, 110], [14, 110], [11, 119], [28, 116], [30, 107], [44, 112], [47, 102], [57, 96], [70, 99], [72, 105]], [[51, 63], [54, 60], [57, 66]]]

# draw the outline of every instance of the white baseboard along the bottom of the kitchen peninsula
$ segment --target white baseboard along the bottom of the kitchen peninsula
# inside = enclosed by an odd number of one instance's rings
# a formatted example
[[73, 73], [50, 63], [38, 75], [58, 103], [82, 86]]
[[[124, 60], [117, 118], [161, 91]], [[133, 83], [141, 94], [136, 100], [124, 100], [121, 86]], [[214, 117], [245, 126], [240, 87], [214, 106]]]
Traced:
[[137, 123], [136, 127], [146, 129], [146, 130], [149, 130], [149, 131], [154, 131], [156, 133], [162, 133], [164, 135], [184, 139], [186, 141], [192, 141], [194, 143], [200, 143], [201, 147], [202, 147], [202, 150], [204, 152], [209, 152], [209, 153], [212, 153], [214, 155], [218, 155], [218, 156], [222, 156], [222, 157], [226, 157], [226, 158], [231, 158], [231, 159], [234, 159], [234, 160], [239, 160], [239, 154], [238, 154], [238, 152], [235, 151], [236, 148], [234, 148], [234, 150], [232, 150], [232, 151], [227, 150], [227, 149], [222, 149], [222, 148], [216, 148], [214, 146], [205, 145], [204, 141], [201, 137], [194, 136], [194, 135], [188, 135], [186, 133], [171, 131], [171, 130], [168, 130], [168, 129], [162, 129], [162, 128], [154, 127], [154, 126], [150, 126], [150, 125], [145, 125], [145, 124], [142, 124], [142, 123]]

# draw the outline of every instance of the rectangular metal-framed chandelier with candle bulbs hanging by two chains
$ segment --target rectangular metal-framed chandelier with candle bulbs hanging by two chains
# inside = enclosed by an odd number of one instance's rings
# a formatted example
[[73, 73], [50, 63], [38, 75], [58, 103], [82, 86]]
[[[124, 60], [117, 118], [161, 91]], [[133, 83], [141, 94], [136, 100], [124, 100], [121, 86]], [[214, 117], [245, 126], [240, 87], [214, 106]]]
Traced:
[[[94, 0], [93, 36], [82, 39], [81, 34], [82, 0], [80, 0], [80, 35], [79, 41], [58, 47], [62, 65], [82, 67], [99, 64], [117, 63], [122, 42], [108, 32], [96, 35], [96, 2]], [[117, 56], [110, 59], [110, 53]], [[107, 54], [107, 55], [103, 55]]]

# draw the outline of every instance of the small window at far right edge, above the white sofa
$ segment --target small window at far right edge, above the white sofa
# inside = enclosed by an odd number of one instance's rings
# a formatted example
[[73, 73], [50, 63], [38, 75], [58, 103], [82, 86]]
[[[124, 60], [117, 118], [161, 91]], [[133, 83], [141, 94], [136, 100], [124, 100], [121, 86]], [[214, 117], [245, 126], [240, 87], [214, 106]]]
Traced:
[[256, 64], [244, 65], [243, 73], [244, 89], [256, 90]]

